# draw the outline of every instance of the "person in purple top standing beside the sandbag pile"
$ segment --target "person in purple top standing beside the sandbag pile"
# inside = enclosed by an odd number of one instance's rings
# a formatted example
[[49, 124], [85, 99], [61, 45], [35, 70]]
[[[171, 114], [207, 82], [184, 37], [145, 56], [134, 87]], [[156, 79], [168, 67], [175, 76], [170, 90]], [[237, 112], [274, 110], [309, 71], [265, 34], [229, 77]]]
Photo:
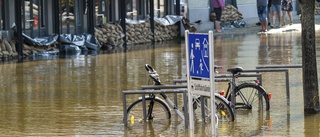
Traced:
[[222, 32], [221, 30], [221, 15], [222, 11], [225, 7], [225, 1], [224, 0], [212, 0], [213, 4], [213, 11], [216, 14], [216, 20], [214, 21], [214, 25], [216, 27], [216, 32]]

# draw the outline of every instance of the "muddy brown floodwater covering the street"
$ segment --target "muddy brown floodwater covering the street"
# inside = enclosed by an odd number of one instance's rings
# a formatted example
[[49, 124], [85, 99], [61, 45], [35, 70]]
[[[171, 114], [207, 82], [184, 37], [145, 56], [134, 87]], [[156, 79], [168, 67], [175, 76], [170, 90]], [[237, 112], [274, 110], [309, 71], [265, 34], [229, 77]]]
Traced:
[[[301, 64], [300, 35], [216, 35], [215, 64], [223, 66], [220, 73], [234, 66]], [[320, 56], [319, 45], [317, 50]], [[185, 78], [185, 56], [184, 43], [167, 42], [96, 56], [1, 64], [0, 136], [192, 136], [174, 111], [171, 124], [161, 131], [150, 126], [132, 131], [123, 123], [122, 91], [147, 85], [144, 65], [172, 84]], [[234, 122], [219, 123], [217, 136], [320, 136], [320, 115], [304, 115], [301, 73], [301, 68], [289, 69], [289, 98], [283, 72], [263, 73], [263, 86], [272, 94], [270, 111], [260, 117], [236, 110]], [[217, 83], [217, 88], [227, 86]], [[128, 95], [127, 105], [139, 97]], [[194, 136], [210, 134], [209, 125], [196, 123]]]

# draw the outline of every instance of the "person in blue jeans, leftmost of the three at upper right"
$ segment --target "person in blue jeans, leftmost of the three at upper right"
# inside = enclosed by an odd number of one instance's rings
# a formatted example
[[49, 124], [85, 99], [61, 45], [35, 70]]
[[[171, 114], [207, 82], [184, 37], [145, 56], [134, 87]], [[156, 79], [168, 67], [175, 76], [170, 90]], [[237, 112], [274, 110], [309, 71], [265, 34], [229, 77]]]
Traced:
[[258, 17], [261, 24], [259, 32], [267, 32], [268, 0], [257, 0]]

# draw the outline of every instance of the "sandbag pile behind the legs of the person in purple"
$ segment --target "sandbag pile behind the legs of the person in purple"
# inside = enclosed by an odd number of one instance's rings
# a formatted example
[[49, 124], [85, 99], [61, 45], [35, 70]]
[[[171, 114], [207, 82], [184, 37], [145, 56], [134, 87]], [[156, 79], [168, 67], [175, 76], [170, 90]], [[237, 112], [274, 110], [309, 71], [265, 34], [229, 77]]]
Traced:
[[[210, 20], [214, 21], [216, 18], [216, 14], [213, 12], [210, 15]], [[227, 5], [224, 10], [222, 11], [221, 15], [221, 21], [236, 21], [236, 20], [241, 20], [243, 19], [242, 13], [238, 11], [237, 8], [235, 8], [232, 5]]]

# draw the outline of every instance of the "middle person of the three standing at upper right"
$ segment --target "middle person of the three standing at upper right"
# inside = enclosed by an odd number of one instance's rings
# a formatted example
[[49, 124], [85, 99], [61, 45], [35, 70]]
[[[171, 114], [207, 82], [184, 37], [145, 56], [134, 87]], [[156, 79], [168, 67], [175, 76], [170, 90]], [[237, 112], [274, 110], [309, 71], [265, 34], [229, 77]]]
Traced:
[[275, 27], [276, 24], [276, 15], [278, 15], [279, 27], [281, 27], [281, 0], [271, 0], [271, 9], [272, 9], [272, 24], [271, 28]]

